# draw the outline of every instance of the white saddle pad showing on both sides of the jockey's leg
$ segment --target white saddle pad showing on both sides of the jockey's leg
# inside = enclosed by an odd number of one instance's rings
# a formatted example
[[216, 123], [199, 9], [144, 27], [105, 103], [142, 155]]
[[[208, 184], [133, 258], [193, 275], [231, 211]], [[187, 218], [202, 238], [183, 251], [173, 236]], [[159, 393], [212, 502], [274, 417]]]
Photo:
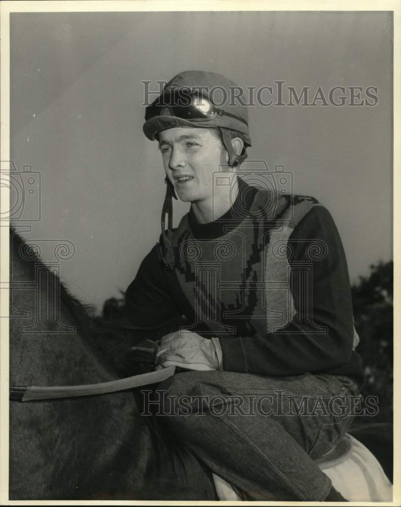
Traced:
[[[340, 444], [337, 447], [339, 446]], [[325, 456], [325, 460], [322, 458], [316, 460], [316, 463], [347, 500], [353, 502], [392, 501], [392, 484], [387, 479], [380, 463], [351, 435], [344, 436], [339, 452], [333, 451]], [[213, 480], [219, 500], [241, 501], [227, 481], [215, 474], [213, 474]]]

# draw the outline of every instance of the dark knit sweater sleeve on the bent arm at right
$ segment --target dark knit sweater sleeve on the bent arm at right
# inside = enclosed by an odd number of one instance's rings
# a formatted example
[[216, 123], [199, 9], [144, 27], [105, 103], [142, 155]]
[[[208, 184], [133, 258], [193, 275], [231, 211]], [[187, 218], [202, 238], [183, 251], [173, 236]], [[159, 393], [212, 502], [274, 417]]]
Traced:
[[345, 253], [332, 216], [323, 206], [314, 206], [289, 237], [294, 251], [289, 260], [291, 275], [297, 263], [308, 260], [308, 242], [316, 239], [324, 241], [327, 255], [312, 263], [311, 297], [306, 297], [302, 279], [291, 276], [296, 314], [284, 328], [251, 337], [219, 337], [225, 370], [277, 376], [335, 372], [355, 354]]

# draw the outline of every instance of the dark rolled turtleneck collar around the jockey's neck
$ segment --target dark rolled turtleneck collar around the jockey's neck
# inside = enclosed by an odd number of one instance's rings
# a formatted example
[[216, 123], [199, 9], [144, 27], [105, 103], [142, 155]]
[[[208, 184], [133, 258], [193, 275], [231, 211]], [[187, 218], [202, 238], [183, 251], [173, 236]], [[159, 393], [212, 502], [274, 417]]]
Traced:
[[[253, 199], [258, 192], [256, 187], [249, 186], [243, 179], [238, 178], [238, 195], [231, 208], [219, 219], [200, 224], [192, 208], [189, 212], [189, 225], [192, 234], [197, 239], [214, 239], [223, 236], [228, 229], [237, 227], [249, 214]], [[228, 227], [229, 226], [229, 227]]]

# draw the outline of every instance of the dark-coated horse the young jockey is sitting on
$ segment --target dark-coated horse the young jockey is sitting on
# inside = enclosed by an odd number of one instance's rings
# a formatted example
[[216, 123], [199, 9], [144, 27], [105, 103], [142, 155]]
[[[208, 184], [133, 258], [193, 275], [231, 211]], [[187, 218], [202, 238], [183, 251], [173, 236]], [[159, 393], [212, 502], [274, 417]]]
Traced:
[[[146, 333], [127, 338], [104, 328], [60, 282], [57, 270], [41, 261], [38, 245], [28, 245], [14, 230], [10, 248], [10, 385], [88, 384], [121, 376], [128, 344]], [[11, 402], [9, 498], [239, 499], [142, 409], [138, 390]], [[369, 430], [361, 434], [369, 442]]]

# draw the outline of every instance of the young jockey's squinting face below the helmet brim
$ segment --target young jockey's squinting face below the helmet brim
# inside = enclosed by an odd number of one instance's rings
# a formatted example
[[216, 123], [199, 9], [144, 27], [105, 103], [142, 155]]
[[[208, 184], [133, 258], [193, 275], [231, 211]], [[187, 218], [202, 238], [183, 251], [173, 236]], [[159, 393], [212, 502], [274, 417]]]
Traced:
[[160, 132], [159, 148], [164, 170], [181, 201], [211, 206], [213, 173], [227, 165], [222, 141], [211, 129], [175, 127]]

